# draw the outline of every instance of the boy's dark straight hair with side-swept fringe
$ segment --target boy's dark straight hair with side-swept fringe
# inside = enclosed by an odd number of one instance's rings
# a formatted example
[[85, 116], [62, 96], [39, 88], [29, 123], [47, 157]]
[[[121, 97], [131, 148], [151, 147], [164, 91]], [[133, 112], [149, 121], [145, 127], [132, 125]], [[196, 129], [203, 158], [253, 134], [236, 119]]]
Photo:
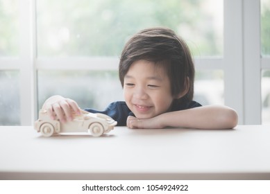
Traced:
[[172, 95], [176, 96], [187, 91], [187, 94], [179, 100], [192, 100], [194, 63], [187, 44], [173, 30], [147, 28], [128, 40], [119, 62], [119, 78], [122, 87], [124, 86], [124, 76], [130, 65], [137, 60], [149, 60], [162, 65], [167, 70]]

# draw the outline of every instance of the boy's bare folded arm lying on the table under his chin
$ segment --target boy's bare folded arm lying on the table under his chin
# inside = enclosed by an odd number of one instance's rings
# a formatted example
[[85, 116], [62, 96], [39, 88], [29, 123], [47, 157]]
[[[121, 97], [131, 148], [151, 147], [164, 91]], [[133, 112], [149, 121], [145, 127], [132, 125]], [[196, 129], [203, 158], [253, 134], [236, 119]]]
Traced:
[[231, 129], [237, 125], [234, 109], [226, 106], [208, 105], [176, 112], [167, 112], [153, 118], [137, 119], [129, 116], [130, 128], [189, 127], [196, 129]]

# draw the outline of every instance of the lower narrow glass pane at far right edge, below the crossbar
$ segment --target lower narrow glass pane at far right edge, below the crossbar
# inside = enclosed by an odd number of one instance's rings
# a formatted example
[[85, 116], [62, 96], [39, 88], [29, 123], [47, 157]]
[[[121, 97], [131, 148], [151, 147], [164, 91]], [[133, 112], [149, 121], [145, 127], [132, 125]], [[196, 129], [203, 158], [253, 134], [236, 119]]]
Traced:
[[262, 124], [270, 124], [270, 70], [262, 71]]

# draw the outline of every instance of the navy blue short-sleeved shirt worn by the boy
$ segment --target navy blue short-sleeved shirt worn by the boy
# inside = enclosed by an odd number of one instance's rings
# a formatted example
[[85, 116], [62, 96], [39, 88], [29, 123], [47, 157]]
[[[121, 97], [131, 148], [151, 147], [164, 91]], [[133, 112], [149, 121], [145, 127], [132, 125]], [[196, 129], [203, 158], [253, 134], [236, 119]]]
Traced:
[[[194, 107], [201, 107], [200, 103], [196, 101], [190, 101], [189, 103], [183, 103], [182, 105], [173, 105], [171, 107], [172, 111], [178, 111], [183, 109], [191, 109]], [[112, 117], [115, 121], [117, 121], [117, 126], [126, 126], [126, 119], [128, 116], [135, 116], [133, 112], [130, 111], [126, 102], [124, 101], [117, 101], [115, 103], [110, 103], [108, 107], [104, 111], [98, 111], [95, 109], [86, 108], [85, 111], [92, 112], [92, 113], [102, 113]]]

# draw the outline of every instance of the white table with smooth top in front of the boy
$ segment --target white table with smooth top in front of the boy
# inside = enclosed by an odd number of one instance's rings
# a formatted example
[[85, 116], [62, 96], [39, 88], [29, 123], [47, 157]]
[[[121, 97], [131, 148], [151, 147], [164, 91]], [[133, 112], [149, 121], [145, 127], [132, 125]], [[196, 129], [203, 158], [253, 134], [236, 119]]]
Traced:
[[0, 179], [270, 179], [270, 127], [46, 138], [33, 126], [0, 126]]

